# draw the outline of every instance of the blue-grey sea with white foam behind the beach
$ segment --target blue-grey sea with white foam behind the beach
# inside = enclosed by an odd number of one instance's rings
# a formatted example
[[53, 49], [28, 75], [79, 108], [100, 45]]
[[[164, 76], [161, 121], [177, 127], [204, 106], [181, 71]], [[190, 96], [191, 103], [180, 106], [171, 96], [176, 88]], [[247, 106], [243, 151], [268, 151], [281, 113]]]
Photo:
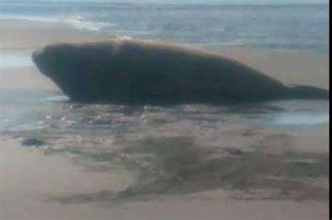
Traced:
[[0, 17], [67, 22], [119, 37], [196, 46], [328, 51], [328, 5], [177, 5], [1, 1]]

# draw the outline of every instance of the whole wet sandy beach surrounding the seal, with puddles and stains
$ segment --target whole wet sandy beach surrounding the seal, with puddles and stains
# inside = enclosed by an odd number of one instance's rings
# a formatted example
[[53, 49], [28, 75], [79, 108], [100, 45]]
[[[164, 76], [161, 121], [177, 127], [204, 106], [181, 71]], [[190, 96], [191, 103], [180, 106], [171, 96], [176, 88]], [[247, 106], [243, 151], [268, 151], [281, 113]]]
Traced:
[[[0, 33], [4, 57], [113, 37], [25, 20], [0, 20]], [[329, 88], [328, 52], [205, 50]], [[29, 62], [0, 71], [0, 219], [328, 218], [328, 101], [82, 105], [58, 101]], [[324, 123], [284, 123], [289, 112]]]

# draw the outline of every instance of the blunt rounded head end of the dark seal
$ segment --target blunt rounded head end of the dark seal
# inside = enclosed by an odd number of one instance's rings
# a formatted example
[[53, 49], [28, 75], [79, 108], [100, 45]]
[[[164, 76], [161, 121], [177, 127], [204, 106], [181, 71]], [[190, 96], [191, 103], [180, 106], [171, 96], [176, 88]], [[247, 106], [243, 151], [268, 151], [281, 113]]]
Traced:
[[[72, 100], [96, 99], [104, 75], [113, 72], [113, 47], [98, 44], [55, 44], [33, 52], [39, 71]], [[106, 66], [106, 68], [105, 68]]]

